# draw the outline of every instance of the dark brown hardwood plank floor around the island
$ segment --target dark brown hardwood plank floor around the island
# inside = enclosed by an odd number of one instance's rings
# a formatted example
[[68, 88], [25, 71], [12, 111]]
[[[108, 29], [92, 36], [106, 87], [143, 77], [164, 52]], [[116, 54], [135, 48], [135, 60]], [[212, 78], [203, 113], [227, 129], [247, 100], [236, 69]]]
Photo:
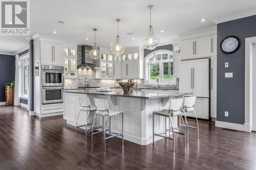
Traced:
[[[189, 120], [195, 124], [195, 120]], [[234, 132], [200, 121], [200, 139], [190, 130], [189, 144], [176, 135], [141, 146], [112, 138], [103, 152], [102, 135], [91, 144], [84, 131], [61, 116], [38, 118], [25, 109], [0, 106], [0, 169], [256, 169], [256, 133]]]

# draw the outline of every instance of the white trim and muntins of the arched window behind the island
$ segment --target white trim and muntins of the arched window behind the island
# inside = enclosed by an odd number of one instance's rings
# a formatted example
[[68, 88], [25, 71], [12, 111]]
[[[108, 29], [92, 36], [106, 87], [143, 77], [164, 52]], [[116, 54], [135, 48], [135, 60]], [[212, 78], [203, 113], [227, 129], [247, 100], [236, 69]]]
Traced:
[[[154, 53], [168, 53], [168, 54], [173, 55], [173, 52], [170, 51], [170, 50], [156, 50], [156, 51], [148, 54], [144, 58], [144, 80], [145, 80], [144, 84], [145, 85], [157, 85], [157, 82], [150, 82], [150, 81], [148, 81], [149, 75], [150, 75], [150, 69], [149, 69], [150, 62], [147, 61], [147, 59], [152, 57], [152, 55], [154, 55]], [[158, 63], [165, 63], [165, 62], [167, 62], [169, 60], [171, 60], [171, 59], [164, 59], [164, 60], [160, 60], [160, 61], [157, 61], [157, 62]], [[173, 64], [174, 64], [174, 59], [173, 59]], [[159, 64], [159, 71], [162, 70], [162, 69], [163, 69], [162, 64]], [[161, 73], [160, 73], [160, 76], [161, 76]], [[159, 82], [159, 85], [176, 85], [176, 78], [174, 77], [174, 81], [173, 82]]]

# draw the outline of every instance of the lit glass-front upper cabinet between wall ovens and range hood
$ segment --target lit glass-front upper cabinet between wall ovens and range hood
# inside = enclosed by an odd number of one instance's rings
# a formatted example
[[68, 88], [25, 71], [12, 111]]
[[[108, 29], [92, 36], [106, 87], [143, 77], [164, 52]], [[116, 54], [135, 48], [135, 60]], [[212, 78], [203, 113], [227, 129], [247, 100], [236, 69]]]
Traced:
[[77, 78], [77, 57], [76, 47], [65, 47], [65, 78], [75, 79]]

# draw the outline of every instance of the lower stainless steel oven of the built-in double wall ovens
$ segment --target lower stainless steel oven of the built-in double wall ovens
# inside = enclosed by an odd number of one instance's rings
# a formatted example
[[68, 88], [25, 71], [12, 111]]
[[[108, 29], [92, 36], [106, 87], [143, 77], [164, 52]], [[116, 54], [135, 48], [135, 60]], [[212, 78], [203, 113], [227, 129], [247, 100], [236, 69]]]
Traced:
[[42, 87], [42, 104], [63, 103], [64, 87]]

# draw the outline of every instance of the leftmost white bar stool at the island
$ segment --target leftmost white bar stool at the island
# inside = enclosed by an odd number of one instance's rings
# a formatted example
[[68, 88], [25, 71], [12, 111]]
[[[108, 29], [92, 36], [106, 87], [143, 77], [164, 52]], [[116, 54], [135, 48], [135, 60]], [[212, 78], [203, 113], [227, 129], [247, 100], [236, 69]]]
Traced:
[[[96, 111], [96, 108], [92, 107], [90, 105], [90, 100], [89, 100], [88, 97], [79, 97], [78, 100], [79, 100], [79, 104], [80, 104], [80, 109], [79, 109], [79, 112], [78, 112], [78, 115], [77, 115], [77, 119], [76, 119], [76, 137], [77, 137], [77, 128], [86, 127], [86, 140], [87, 140], [87, 131], [88, 131], [87, 127], [88, 127], [88, 125], [92, 125], [93, 124], [93, 121], [92, 121], [92, 123], [88, 124], [89, 115], [90, 115], [90, 113], [93, 113], [94, 111]], [[86, 118], [86, 124], [77, 125], [81, 111], [86, 113], [86, 117], [87, 117]]]

